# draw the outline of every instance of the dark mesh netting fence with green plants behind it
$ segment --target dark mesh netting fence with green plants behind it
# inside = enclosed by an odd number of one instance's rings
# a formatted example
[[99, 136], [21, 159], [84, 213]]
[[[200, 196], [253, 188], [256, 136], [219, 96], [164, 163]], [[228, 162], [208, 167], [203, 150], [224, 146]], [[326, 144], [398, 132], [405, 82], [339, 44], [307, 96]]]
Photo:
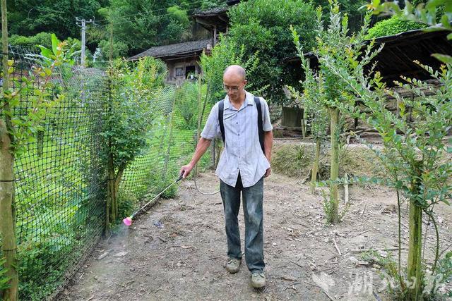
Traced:
[[[39, 57], [26, 49], [12, 48], [10, 59], [14, 59], [17, 79], [28, 76], [32, 66], [40, 63]], [[106, 70], [73, 67], [52, 80], [58, 83], [52, 93], [66, 97], [45, 120], [44, 130], [35, 134], [36, 141], [15, 161], [21, 300], [55, 297], [102, 237], [109, 149], [109, 140], [102, 133], [107, 126], [122, 125], [111, 123], [109, 114], [127, 119], [136, 113], [131, 107], [112, 112], [116, 108], [112, 92], [119, 91], [119, 97], [126, 100], [136, 95], [127, 87], [112, 89]], [[191, 82], [182, 87], [166, 85], [134, 100], [145, 104], [139, 108], [144, 108], [141, 118], [147, 126], [141, 149], [121, 177], [118, 220], [172, 183], [180, 166], [188, 163], [196, 143], [202, 107], [199, 93], [203, 90], [205, 87]], [[14, 114], [30, 109], [33, 97], [30, 92], [20, 94]], [[210, 107], [206, 107], [203, 121]], [[211, 165], [209, 154], [203, 157], [201, 168]]]

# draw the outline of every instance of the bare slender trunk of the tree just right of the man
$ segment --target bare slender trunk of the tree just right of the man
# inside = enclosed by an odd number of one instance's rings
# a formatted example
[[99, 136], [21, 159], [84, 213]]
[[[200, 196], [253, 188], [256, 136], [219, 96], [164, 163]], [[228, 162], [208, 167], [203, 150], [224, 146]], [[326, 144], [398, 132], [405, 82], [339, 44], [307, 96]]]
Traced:
[[[339, 123], [339, 109], [329, 108], [331, 119], [331, 171], [330, 180], [337, 181], [339, 177], [339, 142], [338, 142], [338, 123]], [[330, 202], [332, 205], [331, 215], [329, 216], [329, 222], [339, 222], [339, 197], [338, 197], [338, 184], [330, 184]]]

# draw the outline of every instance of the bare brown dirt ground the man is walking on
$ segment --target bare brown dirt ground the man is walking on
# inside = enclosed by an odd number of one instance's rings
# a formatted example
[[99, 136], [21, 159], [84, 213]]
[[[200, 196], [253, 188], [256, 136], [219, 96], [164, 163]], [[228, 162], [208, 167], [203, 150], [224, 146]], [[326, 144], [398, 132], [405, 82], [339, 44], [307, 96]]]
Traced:
[[[198, 185], [205, 191], [219, 186], [213, 173], [203, 174]], [[59, 300], [376, 300], [373, 292], [387, 299], [380, 267], [352, 250], [396, 246], [393, 192], [350, 188], [345, 221], [326, 226], [321, 193], [310, 195], [308, 185], [275, 174], [264, 187], [268, 283], [263, 290], [251, 288], [245, 264], [237, 274], [225, 271], [220, 195], [201, 195], [186, 180], [179, 197], [162, 200], [130, 228], [102, 241]], [[445, 247], [452, 242], [452, 210], [439, 212]], [[406, 225], [406, 206], [403, 214]], [[242, 212], [239, 223], [243, 237]], [[408, 247], [405, 226], [403, 238], [403, 247]], [[430, 227], [429, 259], [433, 238]], [[403, 258], [406, 254], [403, 250]]]

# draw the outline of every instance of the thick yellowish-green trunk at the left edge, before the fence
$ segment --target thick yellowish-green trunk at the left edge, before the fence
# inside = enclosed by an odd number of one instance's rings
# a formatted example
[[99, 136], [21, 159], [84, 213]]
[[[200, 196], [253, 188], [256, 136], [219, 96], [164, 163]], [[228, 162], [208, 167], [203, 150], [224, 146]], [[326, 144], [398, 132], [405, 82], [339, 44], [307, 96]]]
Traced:
[[6, 259], [6, 276], [10, 287], [4, 292], [4, 300], [18, 300], [18, 272], [16, 270], [16, 233], [13, 213], [14, 199], [14, 157], [11, 154], [11, 140], [4, 121], [0, 120], [0, 234], [1, 252]]

